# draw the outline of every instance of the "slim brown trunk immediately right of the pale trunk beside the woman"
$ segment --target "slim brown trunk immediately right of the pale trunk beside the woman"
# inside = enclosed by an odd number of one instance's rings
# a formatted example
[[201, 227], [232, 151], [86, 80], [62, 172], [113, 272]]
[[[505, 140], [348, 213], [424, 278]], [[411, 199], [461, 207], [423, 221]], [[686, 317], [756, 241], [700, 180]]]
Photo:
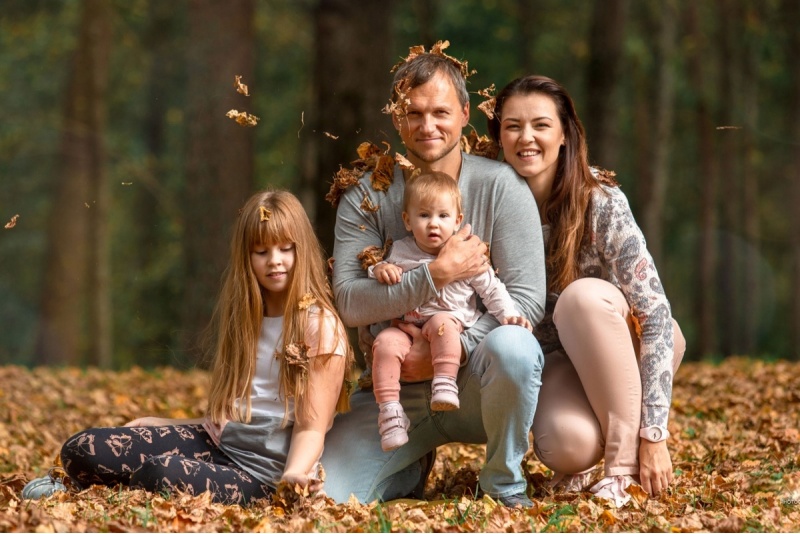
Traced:
[[701, 198], [700, 220], [698, 222], [700, 238], [698, 240], [698, 279], [695, 294], [697, 306], [695, 307], [695, 323], [697, 325], [696, 350], [693, 351], [701, 358], [719, 352], [716, 332], [716, 265], [717, 265], [717, 194], [719, 188], [719, 174], [717, 163], [714, 159], [716, 145], [714, 142], [714, 121], [712, 119], [710, 95], [713, 90], [708, 90], [708, 79], [705, 75], [708, 61], [708, 42], [700, 30], [697, 15], [697, 3], [687, 4], [686, 23], [688, 33], [694, 43], [694, 49], [689, 57], [689, 79], [694, 86], [695, 124], [697, 128], [697, 158], [700, 164]]

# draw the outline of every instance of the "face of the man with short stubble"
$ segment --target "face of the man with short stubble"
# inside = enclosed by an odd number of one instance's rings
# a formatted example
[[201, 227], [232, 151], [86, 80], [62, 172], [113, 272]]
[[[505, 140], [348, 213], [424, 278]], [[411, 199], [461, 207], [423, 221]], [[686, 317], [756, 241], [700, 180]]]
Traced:
[[407, 97], [406, 116], [392, 118], [411, 163], [430, 167], [460, 151], [461, 130], [469, 122], [469, 103], [461, 106], [450, 79], [437, 73], [411, 89]]

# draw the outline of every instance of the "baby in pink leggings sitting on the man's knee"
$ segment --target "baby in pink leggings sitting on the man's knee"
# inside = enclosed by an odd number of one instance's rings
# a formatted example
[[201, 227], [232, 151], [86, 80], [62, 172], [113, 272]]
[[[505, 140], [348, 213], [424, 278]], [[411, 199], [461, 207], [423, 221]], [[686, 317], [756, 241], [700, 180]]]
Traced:
[[[404, 271], [432, 262], [458, 231], [463, 217], [461, 192], [453, 178], [442, 172], [412, 178], [404, 191], [403, 222], [413, 235], [394, 243], [386, 260], [369, 268], [369, 276], [393, 285], [400, 282]], [[483, 274], [443, 287], [437, 298], [403, 315], [403, 322], [422, 327], [422, 334], [430, 343], [434, 371], [432, 410], [459, 408], [456, 374], [461, 364], [460, 335], [481, 316], [476, 292], [498, 321], [532, 329], [530, 322], [520, 317], [491, 267]], [[400, 371], [411, 349], [411, 337], [396, 324], [382, 330], [372, 346], [373, 389], [380, 407], [378, 429], [384, 451], [408, 442], [409, 420], [400, 404]]]

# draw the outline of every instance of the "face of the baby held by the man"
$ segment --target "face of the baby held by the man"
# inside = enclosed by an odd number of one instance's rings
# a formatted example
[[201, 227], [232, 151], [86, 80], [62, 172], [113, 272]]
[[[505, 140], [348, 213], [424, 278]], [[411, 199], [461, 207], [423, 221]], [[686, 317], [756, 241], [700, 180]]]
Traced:
[[450, 239], [461, 224], [455, 199], [439, 195], [430, 200], [415, 200], [403, 212], [406, 230], [414, 234], [417, 246], [428, 254], [437, 255], [445, 241]]

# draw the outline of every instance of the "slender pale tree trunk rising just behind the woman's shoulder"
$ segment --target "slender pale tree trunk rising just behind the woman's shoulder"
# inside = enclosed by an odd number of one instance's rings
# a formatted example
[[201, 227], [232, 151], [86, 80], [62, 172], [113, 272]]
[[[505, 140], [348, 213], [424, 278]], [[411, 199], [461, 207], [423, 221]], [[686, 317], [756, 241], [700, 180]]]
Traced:
[[647, 237], [647, 248], [656, 265], [664, 260], [664, 203], [669, 179], [669, 159], [672, 141], [675, 95], [675, 33], [677, 8], [675, 0], [664, 0], [659, 13], [658, 44], [656, 50], [655, 110], [653, 117], [653, 171], [648, 195], [641, 205], [642, 230]]

